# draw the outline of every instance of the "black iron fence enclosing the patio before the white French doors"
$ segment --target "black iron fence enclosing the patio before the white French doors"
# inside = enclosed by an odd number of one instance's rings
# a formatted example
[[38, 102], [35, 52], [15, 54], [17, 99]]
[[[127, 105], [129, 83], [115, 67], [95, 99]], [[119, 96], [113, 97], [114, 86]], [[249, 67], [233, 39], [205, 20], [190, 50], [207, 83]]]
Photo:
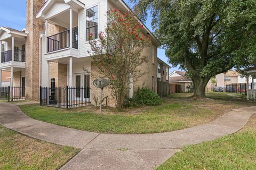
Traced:
[[88, 87], [40, 87], [40, 105], [74, 108], [91, 104]]

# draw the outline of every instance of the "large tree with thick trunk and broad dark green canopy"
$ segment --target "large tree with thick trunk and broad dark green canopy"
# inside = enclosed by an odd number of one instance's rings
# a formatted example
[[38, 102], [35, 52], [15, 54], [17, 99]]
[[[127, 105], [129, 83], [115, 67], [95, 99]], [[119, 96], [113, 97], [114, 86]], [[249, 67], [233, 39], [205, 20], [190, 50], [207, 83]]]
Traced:
[[142, 20], [148, 12], [173, 66], [194, 83], [194, 97], [207, 82], [233, 67], [255, 64], [255, 0], [131, 0]]

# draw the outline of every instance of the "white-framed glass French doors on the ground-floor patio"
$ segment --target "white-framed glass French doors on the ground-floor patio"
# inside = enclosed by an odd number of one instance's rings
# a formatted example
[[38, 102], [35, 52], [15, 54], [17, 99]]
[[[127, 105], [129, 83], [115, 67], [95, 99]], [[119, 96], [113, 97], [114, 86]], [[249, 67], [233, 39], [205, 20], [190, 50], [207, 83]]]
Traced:
[[90, 75], [85, 73], [75, 75], [76, 99], [90, 98]]

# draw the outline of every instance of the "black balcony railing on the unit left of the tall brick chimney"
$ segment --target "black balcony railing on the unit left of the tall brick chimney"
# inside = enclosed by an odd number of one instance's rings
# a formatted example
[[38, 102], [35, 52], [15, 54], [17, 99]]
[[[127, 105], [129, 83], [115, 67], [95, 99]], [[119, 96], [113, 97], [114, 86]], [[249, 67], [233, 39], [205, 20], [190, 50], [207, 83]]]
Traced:
[[[15, 49], [14, 50], [14, 61], [15, 62], [25, 62], [26, 52], [25, 50]], [[1, 53], [1, 63], [6, 63], [12, 61], [12, 50], [7, 50]]]

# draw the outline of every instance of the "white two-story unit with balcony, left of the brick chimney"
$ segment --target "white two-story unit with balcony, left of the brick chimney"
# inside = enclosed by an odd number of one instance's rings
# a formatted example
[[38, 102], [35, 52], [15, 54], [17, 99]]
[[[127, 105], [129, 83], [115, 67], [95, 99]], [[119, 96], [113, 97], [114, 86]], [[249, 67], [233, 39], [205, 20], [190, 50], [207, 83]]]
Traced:
[[[3, 71], [10, 71], [10, 86], [25, 87], [26, 30], [0, 27], [0, 77]], [[2, 84], [2, 78], [0, 78]]]

